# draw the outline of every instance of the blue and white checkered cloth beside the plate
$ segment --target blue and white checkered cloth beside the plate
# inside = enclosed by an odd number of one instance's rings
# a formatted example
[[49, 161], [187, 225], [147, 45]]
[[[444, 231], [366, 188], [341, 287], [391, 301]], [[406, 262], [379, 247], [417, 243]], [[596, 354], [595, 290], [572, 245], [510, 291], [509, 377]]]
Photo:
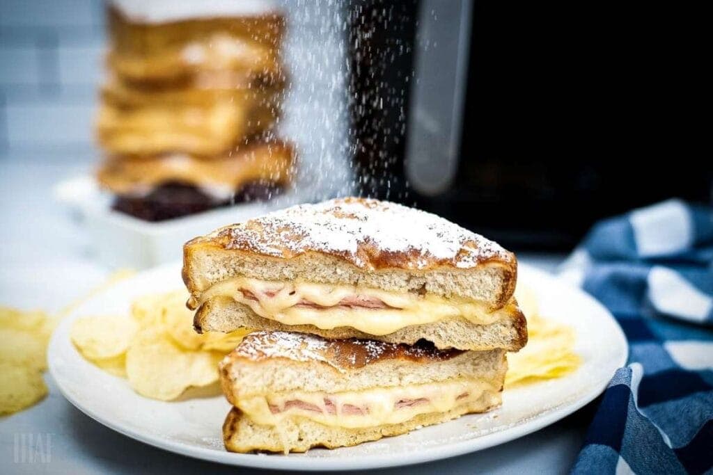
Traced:
[[713, 473], [713, 213], [670, 200], [596, 224], [562, 275], [617, 318], [617, 370], [575, 474]]

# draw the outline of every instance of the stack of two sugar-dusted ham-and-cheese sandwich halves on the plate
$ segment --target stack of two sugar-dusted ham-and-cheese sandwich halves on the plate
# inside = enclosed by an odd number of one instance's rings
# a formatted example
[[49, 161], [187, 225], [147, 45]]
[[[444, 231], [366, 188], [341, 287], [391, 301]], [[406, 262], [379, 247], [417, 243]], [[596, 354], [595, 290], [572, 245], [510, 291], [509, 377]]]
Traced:
[[501, 404], [527, 341], [515, 256], [373, 199], [301, 205], [189, 241], [195, 328], [257, 331], [220, 365], [230, 451], [306, 451]]

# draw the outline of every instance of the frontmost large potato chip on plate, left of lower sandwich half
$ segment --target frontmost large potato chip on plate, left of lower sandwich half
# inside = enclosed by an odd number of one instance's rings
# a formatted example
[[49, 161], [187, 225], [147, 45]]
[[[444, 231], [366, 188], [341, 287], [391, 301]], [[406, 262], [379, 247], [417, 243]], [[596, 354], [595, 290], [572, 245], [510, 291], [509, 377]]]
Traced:
[[140, 395], [168, 401], [188, 387], [217, 381], [220, 354], [180, 348], [163, 330], [141, 330], [126, 353], [129, 384]]

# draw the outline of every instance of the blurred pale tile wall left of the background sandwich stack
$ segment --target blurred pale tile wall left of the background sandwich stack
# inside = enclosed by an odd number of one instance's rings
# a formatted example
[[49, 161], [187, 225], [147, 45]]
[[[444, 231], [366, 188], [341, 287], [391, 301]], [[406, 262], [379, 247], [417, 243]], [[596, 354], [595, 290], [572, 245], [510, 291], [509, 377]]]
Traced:
[[0, 1], [0, 160], [95, 160], [102, 0]]

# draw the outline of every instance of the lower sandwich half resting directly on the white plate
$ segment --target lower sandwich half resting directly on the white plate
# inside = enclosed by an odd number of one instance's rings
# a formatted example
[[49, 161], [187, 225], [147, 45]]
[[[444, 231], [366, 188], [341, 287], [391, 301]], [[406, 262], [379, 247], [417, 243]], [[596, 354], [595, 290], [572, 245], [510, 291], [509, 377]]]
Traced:
[[404, 434], [501, 404], [504, 350], [257, 332], [220, 363], [231, 451], [306, 451]]

